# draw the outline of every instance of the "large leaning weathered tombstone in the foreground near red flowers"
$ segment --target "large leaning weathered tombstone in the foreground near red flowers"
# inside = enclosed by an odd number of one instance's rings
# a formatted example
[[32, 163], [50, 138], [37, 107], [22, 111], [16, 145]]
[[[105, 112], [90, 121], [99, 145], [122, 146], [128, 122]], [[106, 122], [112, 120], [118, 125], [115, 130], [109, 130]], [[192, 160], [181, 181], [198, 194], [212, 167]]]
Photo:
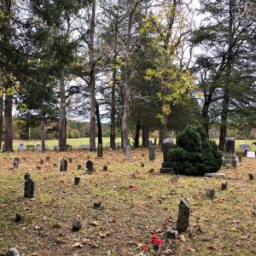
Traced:
[[178, 233], [184, 232], [189, 227], [190, 201], [188, 198], [182, 198], [177, 215], [176, 230]]

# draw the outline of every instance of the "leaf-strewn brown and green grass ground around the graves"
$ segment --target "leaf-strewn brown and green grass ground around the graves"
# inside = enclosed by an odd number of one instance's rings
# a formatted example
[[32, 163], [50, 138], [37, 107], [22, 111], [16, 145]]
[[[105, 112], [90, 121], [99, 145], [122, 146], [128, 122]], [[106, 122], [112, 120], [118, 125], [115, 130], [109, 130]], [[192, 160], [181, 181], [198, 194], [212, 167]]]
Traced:
[[[122, 150], [107, 149], [103, 158], [78, 150], [0, 154], [0, 255], [9, 247], [26, 256], [138, 255], [143, 245], [152, 248], [152, 234], [165, 241], [161, 255], [256, 254], [256, 181], [248, 178], [249, 172], [256, 176], [255, 159], [243, 157], [236, 169], [221, 169], [224, 179], [180, 176], [176, 183], [173, 175], [160, 174], [159, 148], [155, 161], [149, 162], [148, 148], [133, 149], [131, 155], [125, 160]], [[84, 172], [88, 156], [96, 169], [91, 175]], [[60, 172], [63, 158], [73, 160], [67, 172]], [[32, 199], [24, 198], [26, 172], [36, 183]], [[74, 177], [80, 177], [78, 186]], [[228, 189], [221, 189], [223, 182]], [[216, 190], [213, 200], [206, 189]], [[189, 229], [167, 239], [181, 197], [191, 202]], [[15, 222], [15, 213], [24, 219]], [[74, 219], [82, 221], [77, 232]]]

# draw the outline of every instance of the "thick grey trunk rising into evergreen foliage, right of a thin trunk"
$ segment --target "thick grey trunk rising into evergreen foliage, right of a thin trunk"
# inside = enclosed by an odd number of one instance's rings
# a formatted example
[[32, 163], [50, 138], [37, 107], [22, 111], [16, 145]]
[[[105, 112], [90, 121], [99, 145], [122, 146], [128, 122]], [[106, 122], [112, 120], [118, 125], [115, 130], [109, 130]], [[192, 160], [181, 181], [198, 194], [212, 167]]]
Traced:
[[64, 78], [60, 79], [60, 118], [59, 118], [59, 147], [60, 151], [67, 150], [67, 119], [66, 119], [66, 90]]

